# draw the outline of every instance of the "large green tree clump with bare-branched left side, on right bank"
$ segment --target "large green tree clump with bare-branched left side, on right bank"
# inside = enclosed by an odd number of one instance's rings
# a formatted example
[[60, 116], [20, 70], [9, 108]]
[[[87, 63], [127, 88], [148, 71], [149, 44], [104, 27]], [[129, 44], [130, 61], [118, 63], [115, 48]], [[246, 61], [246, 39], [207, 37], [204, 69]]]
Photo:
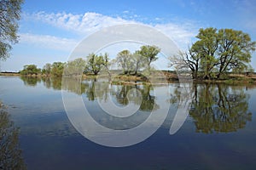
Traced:
[[170, 57], [171, 65], [187, 66], [195, 79], [199, 71], [204, 79], [220, 79], [229, 71], [252, 71], [249, 62], [256, 42], [247, 33], [211, 27], [200, 29], [196, 37], [198, 41], [187, 53]]

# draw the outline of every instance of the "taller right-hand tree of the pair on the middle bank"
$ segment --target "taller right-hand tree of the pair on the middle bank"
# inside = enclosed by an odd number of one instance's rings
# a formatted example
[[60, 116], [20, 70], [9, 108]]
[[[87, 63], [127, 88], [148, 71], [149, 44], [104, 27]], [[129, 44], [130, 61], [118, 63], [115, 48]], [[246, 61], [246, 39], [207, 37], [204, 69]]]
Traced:
[[150, 46], [150, 45], [144, 45], [140, 48], [139, 54], [144, 57], [146, 60], [146, 63], [148, 65], [148, 68], [150, 67], [150, 64], [154, 62], [157, 58], [157, 54], [160, 53], [160, 48], [156, 46]]

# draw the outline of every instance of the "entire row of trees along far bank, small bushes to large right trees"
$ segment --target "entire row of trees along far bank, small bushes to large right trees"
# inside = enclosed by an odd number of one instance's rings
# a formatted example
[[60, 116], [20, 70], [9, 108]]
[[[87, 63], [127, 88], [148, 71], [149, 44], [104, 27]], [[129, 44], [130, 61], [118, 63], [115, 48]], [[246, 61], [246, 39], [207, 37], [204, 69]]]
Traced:
[[[169, 66], [174, 66], [177, 71], [191, 72], [194, 79], [222, 79], [229, 72], [253, 71], [250, 62], [256, 42], [247, 33], [211, 27], [200, 29], [196, 38], [198, 40], [187, 52], [179, 52], [169, 58]], [[150, 65], [158, 59], [159, 53], [159, 47], [144, 45], [134, 53], [127, 49], [122, 50], [115, 59], [109, 59], [107, 53], [89, 54], [86, 59], [74, 59], [67, 63], [55, 62], [52, 65], [48, 63], [42, 70], [36, 65], [25, 65], [20, 73], [61, 77], [65, 67], [65, 75], [81, 72], [98, 75], [102, 70], [110, 74], [110, 67], [115, 65], [125, 75], [138, 75], [140, 71], [150, 71]]]

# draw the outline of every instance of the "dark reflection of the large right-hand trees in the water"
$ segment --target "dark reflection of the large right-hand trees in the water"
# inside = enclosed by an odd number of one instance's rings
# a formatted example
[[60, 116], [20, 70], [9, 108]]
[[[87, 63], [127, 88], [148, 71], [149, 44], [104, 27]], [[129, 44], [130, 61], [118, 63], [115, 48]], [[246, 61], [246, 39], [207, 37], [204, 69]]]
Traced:
[[206, 84], [195, 89], [196, 99], [189, 114], [197, 132], [235, 132], [251, 121], [252, 113], [247, 111], [249, 96], [241, 88]]

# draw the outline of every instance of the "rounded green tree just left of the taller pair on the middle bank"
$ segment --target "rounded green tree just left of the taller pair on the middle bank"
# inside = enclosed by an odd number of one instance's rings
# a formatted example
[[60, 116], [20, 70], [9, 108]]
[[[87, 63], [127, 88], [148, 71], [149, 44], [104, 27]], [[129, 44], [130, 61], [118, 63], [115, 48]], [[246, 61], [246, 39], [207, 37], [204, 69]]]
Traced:
[[93, 72], [94, 75], [98, 75], [98, 73], [102, 70], [103, 64], [104, 59], [102, 55], [89, 54], [87, 56], [86, 70]]

